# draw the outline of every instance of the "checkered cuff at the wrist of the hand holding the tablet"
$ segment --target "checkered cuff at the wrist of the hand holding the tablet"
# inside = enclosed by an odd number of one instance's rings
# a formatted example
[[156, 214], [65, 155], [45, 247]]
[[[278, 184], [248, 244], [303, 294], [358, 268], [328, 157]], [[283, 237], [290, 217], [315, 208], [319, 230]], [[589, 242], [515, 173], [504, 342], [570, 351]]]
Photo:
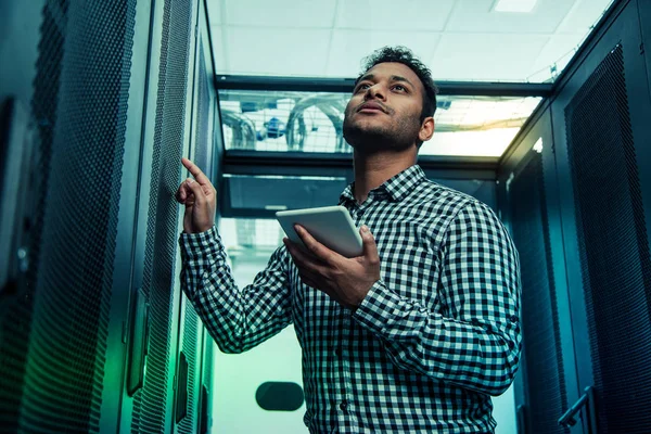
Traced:
[[401, 315], [406, 301], [381, 280], [373, 283], [367, 296], [355, 309], [353, 318], [372, 333], [383, 337], [387, 328]]

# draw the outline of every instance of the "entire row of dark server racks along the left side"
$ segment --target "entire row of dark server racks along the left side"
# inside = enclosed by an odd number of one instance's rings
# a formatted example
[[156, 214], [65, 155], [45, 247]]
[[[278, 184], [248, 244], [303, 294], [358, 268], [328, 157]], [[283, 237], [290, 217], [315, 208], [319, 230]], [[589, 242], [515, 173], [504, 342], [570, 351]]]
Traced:
[[[1, 7], [3, 162], [21, 170], [2, 167], [12, 242], [0, 275], [0, 430], [205, 429], [212, 346], [182, 309], [173, 195], [192, 136], [216, 171], [214, 124], [191, 124], [199, 95], [210, 113], [214, 99], [193, 86], [200, 3], [37, 7]], [[178, 348], [196, 365], [194, 388], [179, 387]], [[181, 391], [193, 404], [173, 420]]]

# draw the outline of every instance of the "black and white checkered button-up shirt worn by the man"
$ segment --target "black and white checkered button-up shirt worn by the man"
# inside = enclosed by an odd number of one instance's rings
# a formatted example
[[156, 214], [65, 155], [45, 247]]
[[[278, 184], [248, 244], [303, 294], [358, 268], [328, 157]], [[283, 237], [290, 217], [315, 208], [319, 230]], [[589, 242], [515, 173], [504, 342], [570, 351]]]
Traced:
[[284, 246], [239, 290], [215, 228], [181, 234], [181, 282], [225, 353], [293, 323], [310, 433], [493, 433], [521, 349], [520, 270], [493, 210], [411, 166], [340, 204], [378, 244], [381, 279], [355, 310], [303, 284]]

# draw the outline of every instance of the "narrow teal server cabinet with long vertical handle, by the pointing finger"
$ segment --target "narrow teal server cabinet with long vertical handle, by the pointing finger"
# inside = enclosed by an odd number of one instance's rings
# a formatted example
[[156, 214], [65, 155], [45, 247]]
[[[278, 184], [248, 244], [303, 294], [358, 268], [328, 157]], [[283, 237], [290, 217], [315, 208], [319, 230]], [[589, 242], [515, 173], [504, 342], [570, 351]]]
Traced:
[[122, 432], [170, 432], [176, 423], [181, 221], [174, 193], [189, 146], [195, 3], [156, 1], [152, 9]]

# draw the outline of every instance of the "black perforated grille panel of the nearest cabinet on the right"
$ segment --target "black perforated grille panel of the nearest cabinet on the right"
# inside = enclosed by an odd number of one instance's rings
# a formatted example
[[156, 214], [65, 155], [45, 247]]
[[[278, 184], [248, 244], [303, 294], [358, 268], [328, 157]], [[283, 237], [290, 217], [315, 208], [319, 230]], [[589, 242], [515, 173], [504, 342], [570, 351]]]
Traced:
[[565, 108], [599, 432], [651, 432], [651, 260], [614, 48]]

